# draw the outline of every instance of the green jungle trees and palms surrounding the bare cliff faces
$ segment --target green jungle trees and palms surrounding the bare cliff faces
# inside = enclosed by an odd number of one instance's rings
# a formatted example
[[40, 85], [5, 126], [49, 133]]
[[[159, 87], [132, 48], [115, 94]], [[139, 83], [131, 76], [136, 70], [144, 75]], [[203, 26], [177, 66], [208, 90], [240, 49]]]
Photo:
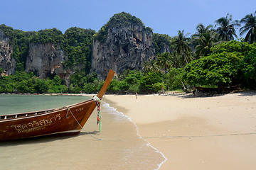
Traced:
[[[255, 12], [256, 13], [256, 12]], [[152, 43], [156, 56], [142, 64], [141, 70], [126, 70], [112, 80], [109, 93], [157, 93], [164, 90], [190, 89], [192, 86], [219, 88], [237, 86], [256, 87], [256, 16], [250, 14], [235, 20], [231, 15], [215, 21], [213, 26], [198, 24], [196, 33], [188, 37], [184, 30], [170, 37], [153, 33]], [[104, 41], [110, 26], [132, 26], [146, 28], [139, 18], [129, 13], [117, 13], [102, 26], [99, 32], [90, 29], [69, 28], [64, 34], [56, 28], [25, 32], [1, 25], [0, 30], [10, 39], [14, 47], [12, 57], [16, 59], [14, 75], [4, 76], [0, 68], [0, 92], [4, 93], [97, 93], [104, 81], [90, 73], [92, 40]], [[238, 38], [235, 30], [241, 26]], [[23, 72], [29, 43], [53, 42], [61, 45], [68, 56], [63, 63], [67, 69], [75, 70], [70, 76], [69, 86], [63, 85], [60, 77], [38, 79], [33, 73]]]

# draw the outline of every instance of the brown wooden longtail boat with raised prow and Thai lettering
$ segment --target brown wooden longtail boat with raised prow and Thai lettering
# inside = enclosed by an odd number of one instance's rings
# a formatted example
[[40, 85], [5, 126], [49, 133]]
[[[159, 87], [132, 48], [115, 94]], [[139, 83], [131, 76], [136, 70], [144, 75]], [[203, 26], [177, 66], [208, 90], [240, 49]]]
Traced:
[[[110, 72], [97, 100], [92, 98], [63, 108], [30, 113], [1, 115], [0, 141], [16, 140], [43, 135], [78, 135], [110, 85], [114, 71]], [[99, 99], [100, 98], [100, 99]]]

